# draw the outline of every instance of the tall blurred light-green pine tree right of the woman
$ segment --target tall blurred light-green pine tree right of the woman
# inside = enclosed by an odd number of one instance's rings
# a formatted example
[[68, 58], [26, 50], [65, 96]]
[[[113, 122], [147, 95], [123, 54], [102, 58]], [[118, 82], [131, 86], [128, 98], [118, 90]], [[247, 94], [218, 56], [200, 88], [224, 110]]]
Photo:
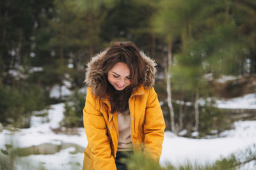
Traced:
[[233, 11], [233, 6], [237, 2], [225, 2], [163, 0], [155, 18], [156, 31], [168, 42], [169, 55], [173, 51], [170, 46], [178, 45], [175, 64], [168, 73], [172, 74], [175, 90], [194, 96], [187, 96], [194, 104], [194, 131], [200, 124], [199, 99], [209, 97], [211, 92], [205, 75], [211, 73], [217, 78], [220, 74], [236, 73], [237, 64], [245, 56], [243, 49], [248, 49], [234, 18], [237, 11]]

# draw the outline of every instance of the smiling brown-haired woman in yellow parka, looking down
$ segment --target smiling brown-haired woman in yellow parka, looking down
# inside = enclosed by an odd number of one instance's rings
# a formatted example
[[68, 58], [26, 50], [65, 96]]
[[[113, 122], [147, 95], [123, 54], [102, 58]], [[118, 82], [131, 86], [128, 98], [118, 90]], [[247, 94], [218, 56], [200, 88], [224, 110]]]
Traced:
[[126, 169], [124, 152], [143, 151], [159, 161], [165, 124], [155, 66], [131, 42], [115, 42], [89, 62], [83, 169]]

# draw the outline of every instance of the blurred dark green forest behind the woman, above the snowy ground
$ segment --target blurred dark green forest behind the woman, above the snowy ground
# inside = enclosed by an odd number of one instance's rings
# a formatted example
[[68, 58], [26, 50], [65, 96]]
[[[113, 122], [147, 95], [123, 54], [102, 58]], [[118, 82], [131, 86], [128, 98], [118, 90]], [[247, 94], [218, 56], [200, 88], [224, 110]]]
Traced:
[[166, 130], [201, 138], [252, 118], [215, 101], [256, 92], [254, 0], [2, 0], [1, 124], [29, 127], [33, 111], [64, 102], [61, 125], [83, 127], [86, 63], [111, 41], [156, 60]]

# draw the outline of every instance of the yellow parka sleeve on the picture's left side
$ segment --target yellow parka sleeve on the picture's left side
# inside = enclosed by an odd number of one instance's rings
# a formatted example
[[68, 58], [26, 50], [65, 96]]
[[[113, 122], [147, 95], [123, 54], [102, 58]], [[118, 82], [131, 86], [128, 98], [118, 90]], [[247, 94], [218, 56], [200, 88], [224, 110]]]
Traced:
[[86, 103], [83, 110], [84, 129], [93, 157], [95, 170], [116, 169], [115, 159], [111, 154], [111, 146], [108, 137], [108, 127], [103, 114], [95, 107], [96, 101], [89, 87], [86, 95]]

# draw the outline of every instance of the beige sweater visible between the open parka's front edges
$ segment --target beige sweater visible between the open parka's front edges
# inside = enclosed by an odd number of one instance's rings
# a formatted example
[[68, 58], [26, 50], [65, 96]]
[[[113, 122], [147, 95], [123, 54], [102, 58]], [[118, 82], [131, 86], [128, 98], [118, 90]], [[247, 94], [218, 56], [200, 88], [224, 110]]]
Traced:
[[132, 150], [130, 111], [118, 113], [118, 145], [117, 151]]

